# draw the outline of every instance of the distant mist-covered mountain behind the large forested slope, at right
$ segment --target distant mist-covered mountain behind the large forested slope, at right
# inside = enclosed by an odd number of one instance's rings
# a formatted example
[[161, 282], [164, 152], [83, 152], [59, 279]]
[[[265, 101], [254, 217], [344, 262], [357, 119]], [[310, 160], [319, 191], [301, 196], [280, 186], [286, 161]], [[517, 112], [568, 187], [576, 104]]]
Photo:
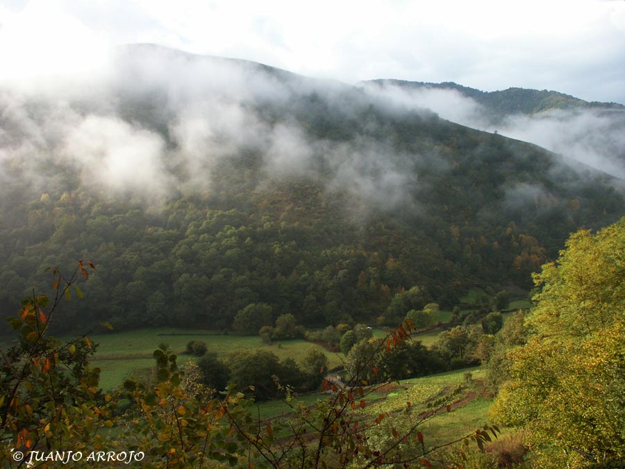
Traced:
[[540, 145], [625, 178], [625, 106], [587, 102], [547, 90], [483, 92], [456, 83], [361, 83], [394, 102], [423, 106], [458, 124]]

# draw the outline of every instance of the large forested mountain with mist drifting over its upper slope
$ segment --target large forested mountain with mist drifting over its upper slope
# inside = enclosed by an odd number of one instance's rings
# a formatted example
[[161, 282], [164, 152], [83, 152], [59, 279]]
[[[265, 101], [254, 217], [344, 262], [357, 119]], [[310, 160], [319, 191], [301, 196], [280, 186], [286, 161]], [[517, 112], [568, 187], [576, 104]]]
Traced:
[[529, 288], [622, 181], [380, 92], [149, 44], [53, 91], [0, 90], [0, 304], [97, 265], [60, 329], [385, 321], [418, 286]]

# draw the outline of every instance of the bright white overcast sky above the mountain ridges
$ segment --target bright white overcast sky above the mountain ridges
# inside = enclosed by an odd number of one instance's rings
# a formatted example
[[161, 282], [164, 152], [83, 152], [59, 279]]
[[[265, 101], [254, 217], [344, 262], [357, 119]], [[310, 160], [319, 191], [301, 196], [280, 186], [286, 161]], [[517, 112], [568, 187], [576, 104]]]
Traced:
[[0, 80], [153, 42], [348, 83], [456, 81], [625, 104], [625, 1], [0, 0]]

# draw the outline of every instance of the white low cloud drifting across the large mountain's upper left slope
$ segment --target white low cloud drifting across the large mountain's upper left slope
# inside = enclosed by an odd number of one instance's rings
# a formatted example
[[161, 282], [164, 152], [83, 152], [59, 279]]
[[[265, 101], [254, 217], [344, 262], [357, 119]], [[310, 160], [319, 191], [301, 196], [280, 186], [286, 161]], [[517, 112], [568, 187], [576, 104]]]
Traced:
[[26, 85], [17, 93], [5, 84], [3, 166], [19, 161], [34, 179], [44, 165], [65, 165], [84, 186], [158, 202], [178, 191], [210, 190], [218, 165], [251, 151], [262, 158], [260, 182], [315, 179], [385, 208], [410, 192], [418, 156], [359, 135], [320, 139], [293, 108], [313, 102], [356, 120], [363, 102], [376, 97], [338, 82], [149, 44], [122, 48], [110, 63], [78, 94], [74, 81], [57, 81], [53, 93]]

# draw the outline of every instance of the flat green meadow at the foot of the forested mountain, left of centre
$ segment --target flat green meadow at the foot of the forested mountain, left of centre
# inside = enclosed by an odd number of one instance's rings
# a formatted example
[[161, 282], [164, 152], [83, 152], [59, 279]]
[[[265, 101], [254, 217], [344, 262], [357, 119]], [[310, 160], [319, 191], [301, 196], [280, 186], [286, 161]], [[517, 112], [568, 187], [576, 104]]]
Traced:
[[[109, 390], [116, 388], [131, 375], [145, 375], [154, 365], [152, 354], [160, 343], [181, 354], [190, 340], [201, 340], [206, 343], [208, 352], [217, 356], [225, 356], [232, 352], [265, 349], [274, 352], [281, 360], [292, 358], [299, 362], [310, 347], [315, 347], [328, 357], [329, 367], [335, 368], [342, 364], [342, 354], [307, 342], [306, 340], [284, 340], [267, 345], [258, 336], [224, 336], [212, 331], [198, 329], [139, 329], [110, 334], [90, 336], [92, 342], [99, 344], [92, 360], [93, 367], [101, 369], [100, 386]], [[192, 357], [178, 356], [178, 363], [185, 363]]]

